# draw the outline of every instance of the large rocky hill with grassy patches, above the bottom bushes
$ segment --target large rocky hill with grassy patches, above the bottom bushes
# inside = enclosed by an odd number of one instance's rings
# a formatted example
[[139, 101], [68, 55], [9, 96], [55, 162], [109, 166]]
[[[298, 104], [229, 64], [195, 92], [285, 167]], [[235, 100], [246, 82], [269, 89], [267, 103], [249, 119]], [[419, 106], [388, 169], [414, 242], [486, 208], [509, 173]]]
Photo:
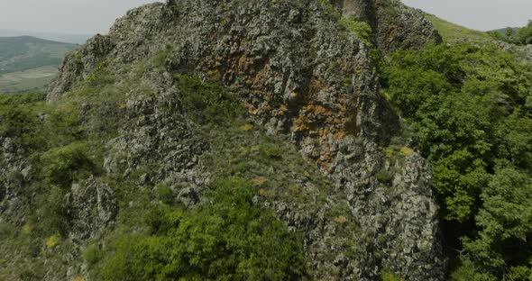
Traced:
[[[362, 23], [369, 38], [353, 29]], [[443, 280], [431, 171], [403, 137], [371, 59], [427, 41], [441, 38], [398, 1], [134, 9], [69, 54], [47, 104], [32, 105], [38, 137], [56, 142], [0, 135], [0, 222], [39, 229], [50, 213], [38, 198], [60, 186], [68, 224], [34, 234], [49, 238], [28, 270], [85, 278], [87, 245], [105, 250], [116, 231], [142, 232], [134, 213], [161, 201], [146, 193], [168, 186], [170, 202], [190, 209], [208, 204], [217, 179], [242, 177], [257, 188], [254, 204], [301, 234], [302, 276]]]

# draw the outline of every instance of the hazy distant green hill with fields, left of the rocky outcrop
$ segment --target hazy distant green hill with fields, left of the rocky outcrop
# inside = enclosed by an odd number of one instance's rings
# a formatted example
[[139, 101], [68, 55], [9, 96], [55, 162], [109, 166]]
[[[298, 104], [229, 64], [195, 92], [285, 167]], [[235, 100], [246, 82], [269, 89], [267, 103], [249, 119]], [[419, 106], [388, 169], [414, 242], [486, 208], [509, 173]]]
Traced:
[[76, 47], [31, 36], [0, 37], [0, 92], [45, 88], [65, 55]]

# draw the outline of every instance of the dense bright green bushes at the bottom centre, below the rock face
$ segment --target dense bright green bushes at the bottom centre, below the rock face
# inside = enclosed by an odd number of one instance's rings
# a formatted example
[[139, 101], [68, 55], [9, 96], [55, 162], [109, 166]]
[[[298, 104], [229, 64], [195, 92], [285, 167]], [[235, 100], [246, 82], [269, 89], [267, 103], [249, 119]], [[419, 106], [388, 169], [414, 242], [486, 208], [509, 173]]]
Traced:
[[191, 211], [153, 207], [149, 233], [118, 235], [99, 263], [100, 280], [292, 280], [304, 274], [296, 233], [252, 203], [251, 183], [218, 181]]

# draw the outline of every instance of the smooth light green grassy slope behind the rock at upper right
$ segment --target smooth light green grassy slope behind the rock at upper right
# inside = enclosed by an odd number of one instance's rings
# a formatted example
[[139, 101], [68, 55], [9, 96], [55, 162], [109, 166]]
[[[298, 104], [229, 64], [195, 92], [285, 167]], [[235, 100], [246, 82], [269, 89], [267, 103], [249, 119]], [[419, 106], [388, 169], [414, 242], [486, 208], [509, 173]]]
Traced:
[[430, 21], [445, 41], [460, 41], [463, 39], [470, 41], [491, 41], [491, 36], [486, 32], [479, 32], [458, 24], [449, 23], [438, 18], [434, 14], [427, 14], [427, 20]]

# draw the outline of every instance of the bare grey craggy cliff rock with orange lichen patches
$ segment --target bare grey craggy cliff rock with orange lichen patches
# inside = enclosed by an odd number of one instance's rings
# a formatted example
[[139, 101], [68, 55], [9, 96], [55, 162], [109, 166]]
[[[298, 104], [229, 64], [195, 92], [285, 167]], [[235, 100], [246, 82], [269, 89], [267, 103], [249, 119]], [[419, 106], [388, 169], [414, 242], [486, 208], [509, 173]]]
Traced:
[[[417, 12], [398, 3], [335, 4], [370, 21], [385, 53], [437, 41], [437, 32]], [[76, 89], [102, 61], [116, 76], [128, 77], [146, 59], [162, 58], [161, 68], [142, 70], [143, 85], [158, 96], [125, 93], [129, 121], [107, 143], [116, 153], [105, 159], [105, 168], [159, 161], [164, 168], [152, 180], [179, 182], [184, 202], [195, 204], [209, 177], [197, 159], [209, 145], [195, 140], [196, 127], [184, 120], [173, 75], [193, 74], [227, 86], [257, 123], [285, 136], [331, 179], [335, 196], [347, 202], [360, 224], [362, 234], [348, 233], [353, 245], [347, 247], [335, 241], [340, 238], [334, 218], [309, 218], [312, 210], [290, 202], [264, 203], [307, 233], [307, 264], [316, 279], [374, 280], [386, 267], [408, 280], [441, 280], [430, 168], [407, 144], [395, 159], [383, 152], [399, 132], [399, 118], [380, 95], [367, 46], [325, 9], [313, 0], [144, 5], [119, 19], [109, 35], [69, 55], [50, 86], [49, 101]], [[127, 159], [119, 159], [119, 152]], [[377, 177], [380, 172], [389, 177]]]

